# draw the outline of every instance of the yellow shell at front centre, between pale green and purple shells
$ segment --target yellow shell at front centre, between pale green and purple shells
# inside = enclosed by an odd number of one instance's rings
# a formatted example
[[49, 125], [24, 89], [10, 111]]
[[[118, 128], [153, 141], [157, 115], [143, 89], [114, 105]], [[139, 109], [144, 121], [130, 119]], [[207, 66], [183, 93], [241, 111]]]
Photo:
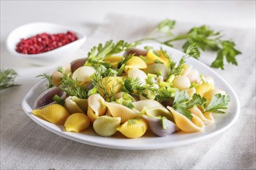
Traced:
[[147, 121], [142, 118], [130, 119], [116, 128], [127, 138], [140, 138], [147, 131]]

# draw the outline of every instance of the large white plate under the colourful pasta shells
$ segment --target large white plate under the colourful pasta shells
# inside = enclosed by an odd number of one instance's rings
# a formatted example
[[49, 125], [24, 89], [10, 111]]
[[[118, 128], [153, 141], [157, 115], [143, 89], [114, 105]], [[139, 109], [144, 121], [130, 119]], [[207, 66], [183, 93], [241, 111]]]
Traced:
[[[154, 49], [160, 48], [160, 44], [157, 43], [144, 43], [138, 47], [142, 48], [143, 46], [153, 46]], [[162, 46], [165, 50], [171, 53], [175, 59], [179, 59], [184, 53], [178, 51], [177, 49], [173, 49], [168, 46]], [[42, 119], [31, 114], [33, 103], [36, 100], [36, 97], [40, 95], [40, 93], [45, 90], [45, 84], [47, 81], [42, 80], [36, 84], [29, 92], [26, 94], [22, 101], [23, 110], [25, 110], [26, 114], [37, 124], [40, 124], [43, 128], [46, 128], [48, 131], [52, 131], [55, 134], [58, 134], [64, 138], [71, 139], [73, 141], [78, 141], [88, 145], [94, 145], [105, 148], [119, 148], [119, 149], [134, 149], [134, 150], [147, 150], [147, 149], [157, 149], [157, 148], [171, 148], [180, 145], [191, 144], [196, 141], [201, 141], [206, 138], [211, 138], [216, 134], [220, 134], [221, 132], [230, 128], [232, 124], [237, 120], [237, 117], [240, 112], [240, 104], [237, 98], [237, 94], [234, 92], [233, 88], [227, 83], [226, 80], [215, 73], [209, 66], [199, 62], [196, 59], [189, 58], [187, 63], [192, 64], [192, 66], [199, 70], [199, 73], [204, 75], [212, 76], [215, 80], [215, 87], [225, 90], [228, 95], [231, 97], [231, 102], [229, 104], [229, 108], [227, 110], [227, 114], [215, 114], [216, 124], [206, 126], [205, 131], [199, 133], [175, 133], [171, 134], [167, 137], [156, 137], [154, 134], [150, 134], [147, 132], [142, 138], [136, 139], [128, 139], [124, 138], [119, 132], [115, 134], [113, 137], [100, 137], [92, 129], [84, 131], [82, 133], [73, 133], [64, 131], [63, 126], [59, 126], [56, 124], [51, 124], [47, 121], [43, 121]]]

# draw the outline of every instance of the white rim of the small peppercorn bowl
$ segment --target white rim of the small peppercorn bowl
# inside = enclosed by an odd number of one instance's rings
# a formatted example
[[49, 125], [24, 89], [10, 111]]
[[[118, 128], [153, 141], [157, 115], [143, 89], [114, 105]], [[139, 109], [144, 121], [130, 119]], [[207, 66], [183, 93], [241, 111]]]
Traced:
[[[70, 43], [68, 43], [68, 44], [66, 44], [64, 46], [60, 46], [60, 47], [58, 47], [56, 49], [52, 49], [52, 50], [47, 51], [45, 53], [38, 53], [38, 54], [18, 53], [18, 52], [16, 52], [16, 46], [9, 46], [9, 42], [11, 41], [11, 36], [12, 36], [12, 34], [14, 32], [16, 32], [17, 30], [21, 29], [22, 27], [33, 26], [33, 25], [40, 25], [40, 24], [51, 25], [51, 26], [58, 26], [58, 27], [61, 27], [62, 29], [68, 29], [69, 31], [74, 32], [75, 34], [77, 34], [78, 39], [73, 41], [73, 42], [70, 42]], [[73, 29], [70, 26], [64, 26], [64, 25], [57, 24], [57, 23], [52, 23], [52, 22], [29, 22], [29, 23], [26, 23], [26, 24], [24, 24], [22, 26], [17, 27], [16, 29], [13, 29], [12, 32], [9, 33], [9, 36], [6, 39], [5, 46], [9, 50], [9, 53], [12, 53], [12, 55], [14, 55], [14, 56], [26, 57], [26, 58], [33, 58], [33, 57], [38, 57], [38, 58], [43, 57], [43, 58], [46, 58], [46, 57], [49, 57], [50, 55], [52, 55], [54, 53], [58, 53], [59, 51], [61, 51], [61, 49], [67, 48], [68, 46], [71, 46], [72, 44], [74, 44], [74, 42], [80, 42], [80, 41], [85, 42], [86, 38], [87, 37], [85, 36], [84, 33], [80, 32], [78, 29]]]

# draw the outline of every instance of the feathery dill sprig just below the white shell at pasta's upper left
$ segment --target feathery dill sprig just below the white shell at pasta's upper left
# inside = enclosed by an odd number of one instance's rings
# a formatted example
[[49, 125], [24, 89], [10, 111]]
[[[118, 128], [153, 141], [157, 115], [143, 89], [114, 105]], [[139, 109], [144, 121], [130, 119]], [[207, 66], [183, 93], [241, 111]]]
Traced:
[[81, 99], [88, 98], [88, 88], [82, 85], [78, 80], [72, 79], [70, 74], [64, 73], [61, 67], [57, 68], [57, 71], [63, 74], [61, 77], [61, 83], [58, 87], [65, 91], [69, 96], [76, 96]]

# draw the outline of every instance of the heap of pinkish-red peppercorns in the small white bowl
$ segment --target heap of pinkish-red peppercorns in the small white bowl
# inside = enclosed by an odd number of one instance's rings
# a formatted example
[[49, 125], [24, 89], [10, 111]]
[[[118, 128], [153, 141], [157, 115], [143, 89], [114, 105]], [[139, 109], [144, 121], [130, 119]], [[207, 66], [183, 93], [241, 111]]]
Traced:
[[16, 45], [16, 52], [23, 54], [38, 54], [57, 49], [61, 46], [74, 42], [78, 36], [74, 32], [48, 34], [43, 32], [28, 39], [21, 39]]

